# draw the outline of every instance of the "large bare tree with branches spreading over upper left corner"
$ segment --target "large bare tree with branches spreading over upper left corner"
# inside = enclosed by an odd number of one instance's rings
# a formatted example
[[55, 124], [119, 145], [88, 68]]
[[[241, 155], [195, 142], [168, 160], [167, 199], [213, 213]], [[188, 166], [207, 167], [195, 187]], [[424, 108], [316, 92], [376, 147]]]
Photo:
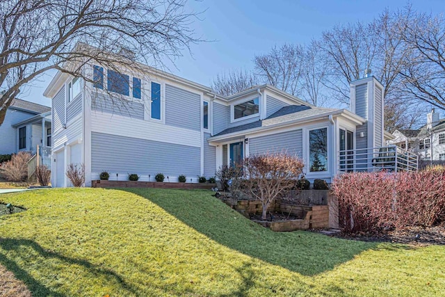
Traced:
[[[0, 3], [0, 124], [20, 90], [47, 70], [83, 77], [85, 63], [110, 63], [104, 52], [136, 53], [162, 65], [189, 49], [196, 13], [186, 0], [4, 0]], [[79, 45], [90, 45], [86, 50]], [[76, 63], [71, 63], [76, 62]]]

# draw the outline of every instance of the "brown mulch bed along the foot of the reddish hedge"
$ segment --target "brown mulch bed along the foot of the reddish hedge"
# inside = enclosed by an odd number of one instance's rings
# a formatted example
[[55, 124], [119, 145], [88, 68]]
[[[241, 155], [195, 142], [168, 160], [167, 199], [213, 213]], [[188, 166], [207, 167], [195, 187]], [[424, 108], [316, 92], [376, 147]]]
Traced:
[[445, 223], [434, 227], [408, 227], [406, 230], [389, 230], [378, 233], [344, 234], [339, 232], [330, 236], [358, 241], [404, 243], [413, 246], [445, 245]]

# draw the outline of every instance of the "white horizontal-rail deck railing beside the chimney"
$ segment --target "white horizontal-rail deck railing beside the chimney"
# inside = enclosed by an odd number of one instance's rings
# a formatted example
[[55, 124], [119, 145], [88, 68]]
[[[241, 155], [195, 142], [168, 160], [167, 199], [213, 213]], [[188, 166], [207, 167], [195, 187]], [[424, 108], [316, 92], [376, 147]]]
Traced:
[[341, 150], [337, 155], [339, 172], [416, 171], [419, 156], [391, 145], [356, 150]]

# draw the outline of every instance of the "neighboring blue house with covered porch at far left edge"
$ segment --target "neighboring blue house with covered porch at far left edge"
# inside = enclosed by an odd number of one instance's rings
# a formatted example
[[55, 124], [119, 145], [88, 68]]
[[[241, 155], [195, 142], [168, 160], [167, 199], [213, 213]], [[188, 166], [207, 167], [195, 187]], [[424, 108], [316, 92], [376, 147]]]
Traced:
[[[20, 151], [35, 154], [38, 145], [50, 150], [51, 108], [16, 98], [6, 110], [5, 119], [0, 125], [0, 154]], [[47, 156], [50, 155], [50, 152], [47, 153]], [[51, 166], [49, 157], [47, 165]]]

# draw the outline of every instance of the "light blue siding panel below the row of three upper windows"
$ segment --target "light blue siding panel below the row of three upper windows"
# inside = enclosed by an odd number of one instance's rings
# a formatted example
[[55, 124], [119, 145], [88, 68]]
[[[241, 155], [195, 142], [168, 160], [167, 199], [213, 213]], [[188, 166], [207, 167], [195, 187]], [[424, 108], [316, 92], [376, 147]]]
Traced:
[[92, 111], [100, 111], [103, 113], [112, 113], [122, 115], [124, 117], [144, 119], [144, 104], [135, 99], [130, 101], [124, 98], [110, 97], [108, 95], [97, 94], [92, 99]]

